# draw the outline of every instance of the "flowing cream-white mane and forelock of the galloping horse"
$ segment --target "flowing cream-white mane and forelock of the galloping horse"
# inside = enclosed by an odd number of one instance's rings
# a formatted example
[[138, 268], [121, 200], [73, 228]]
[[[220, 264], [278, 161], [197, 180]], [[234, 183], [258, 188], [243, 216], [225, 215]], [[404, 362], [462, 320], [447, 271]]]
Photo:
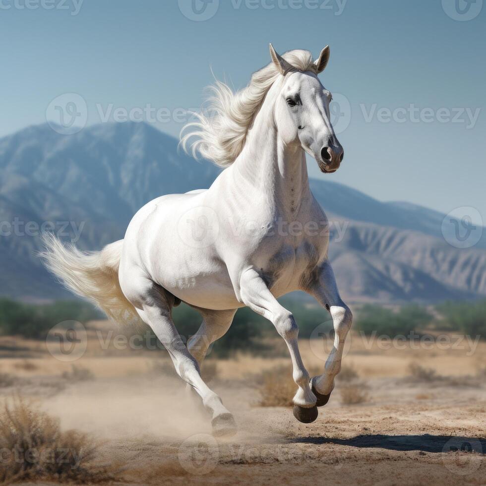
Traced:
[[[317, 72], [308, 51], [296, 49], [282, 56], [299, 71]], [[181, 145], [188, 152], [188, 140], [197, 137], [190, 144], [194, 157], [201, 155], [220, 167], [228, 167], [243, 150], [251, 124], [258, 113], [265, 96], [280, 75], [273, 62], [256, 71], [245, 88], [234, 93], [225, 83], [216, 80], [210, 86], [212, 96], [208, 107], [201, 113], [193, 113], [197, 122], [187, 123], [181, 131], [189, 127], [195, 130], [181, 136]]]

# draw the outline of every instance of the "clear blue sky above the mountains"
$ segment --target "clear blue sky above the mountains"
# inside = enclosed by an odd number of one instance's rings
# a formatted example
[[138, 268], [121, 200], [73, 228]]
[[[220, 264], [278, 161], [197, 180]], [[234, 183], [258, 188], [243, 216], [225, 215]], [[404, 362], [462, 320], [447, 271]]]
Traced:
[[346, 157], [326, 177], [380, 200], [472, 206], [486, 223], [483, 0], [193, 0], [211, 17], [198, 21], [191, 1], [0, 0], [0, 136], [45, 122], [64, 93], [86, 102], [88, 124], [135, 108], [177, 136], [210, 66], [241, 88], [269, 42], [314, 56], [329, 44], [321, 79]]

